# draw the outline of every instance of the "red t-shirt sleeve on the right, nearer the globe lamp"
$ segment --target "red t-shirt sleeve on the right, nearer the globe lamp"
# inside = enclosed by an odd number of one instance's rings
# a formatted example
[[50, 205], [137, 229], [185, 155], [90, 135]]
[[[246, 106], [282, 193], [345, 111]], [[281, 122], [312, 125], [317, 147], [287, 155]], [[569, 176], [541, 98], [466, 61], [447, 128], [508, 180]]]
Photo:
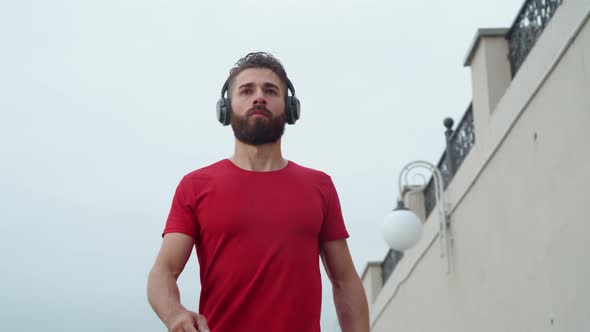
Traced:
[[338, 199], [338, 193], [336, 192], [336, 188], [334, 187], [331, 178], [328, 178], [326, 197], [327, 206], [324, 223], [320, 232], [320, 242], [348, 238], [348, 231], [344, 225], [342, 209], [340, 208], [340, 200]]

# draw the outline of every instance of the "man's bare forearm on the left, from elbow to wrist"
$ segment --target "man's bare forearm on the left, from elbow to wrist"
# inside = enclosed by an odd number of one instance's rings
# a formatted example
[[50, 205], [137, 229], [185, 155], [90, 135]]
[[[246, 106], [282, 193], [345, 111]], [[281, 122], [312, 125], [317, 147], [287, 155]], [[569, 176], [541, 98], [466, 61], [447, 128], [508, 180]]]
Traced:
[[166, 325], [170, 317], [184, 309], [176, 277], [170, 272], [154, 268], [148, 277], [147, 293], [150, 305]]

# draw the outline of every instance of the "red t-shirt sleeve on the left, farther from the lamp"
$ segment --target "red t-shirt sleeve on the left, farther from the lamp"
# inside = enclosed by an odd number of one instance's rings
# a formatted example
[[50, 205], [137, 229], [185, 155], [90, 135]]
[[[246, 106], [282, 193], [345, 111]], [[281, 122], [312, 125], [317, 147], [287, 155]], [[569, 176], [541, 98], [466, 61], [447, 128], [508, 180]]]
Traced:
[[197, 239], [199, 229], [193, 203], [194, 199], [191, 199], [192, 195], [190, 195], [192, 190], [187, 188], [189, 185], [190, 181], [186, 181], [185, 177], [176, 187], [162, 236], [167, 233], [183, 233], [195, 240]]

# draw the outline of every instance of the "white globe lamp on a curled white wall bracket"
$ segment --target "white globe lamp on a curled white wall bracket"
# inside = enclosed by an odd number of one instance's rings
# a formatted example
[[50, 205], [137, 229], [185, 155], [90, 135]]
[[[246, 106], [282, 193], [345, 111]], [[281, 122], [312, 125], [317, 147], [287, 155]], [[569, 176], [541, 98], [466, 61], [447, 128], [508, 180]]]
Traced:
[[385, 217], [383, 223], [383, 237], [393, 250], [405, 251], [418, 243], [422, 236], [422, 222], [415, 213], [405, 207], [404, 197], [410, 192], [421, 192], [427, 186], [405, 185], [408, 184], [410, 172], [415, 169], [427, 170], [432, 174], [435, 188], [436, 211], [439, 222], [439, 237], [441, 244], [441, 257], [447, 260], [447, 273], [451, 271], [448, 215], [446, 212], [446, 201], [444, 197], [443, 178], [438, 168], [427, 161], [413, 161], [402, 169], [399, 174], [399, 200], [397, 207]]

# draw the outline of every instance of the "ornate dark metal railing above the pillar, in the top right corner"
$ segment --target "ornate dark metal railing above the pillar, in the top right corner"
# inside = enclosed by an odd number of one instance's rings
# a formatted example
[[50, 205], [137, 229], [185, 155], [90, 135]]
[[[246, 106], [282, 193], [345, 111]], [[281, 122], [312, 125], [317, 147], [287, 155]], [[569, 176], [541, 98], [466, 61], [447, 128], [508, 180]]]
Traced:
[[508, 58], [516, 75], [537, 39], [563, 0], [527, 0], [508, 31]]

